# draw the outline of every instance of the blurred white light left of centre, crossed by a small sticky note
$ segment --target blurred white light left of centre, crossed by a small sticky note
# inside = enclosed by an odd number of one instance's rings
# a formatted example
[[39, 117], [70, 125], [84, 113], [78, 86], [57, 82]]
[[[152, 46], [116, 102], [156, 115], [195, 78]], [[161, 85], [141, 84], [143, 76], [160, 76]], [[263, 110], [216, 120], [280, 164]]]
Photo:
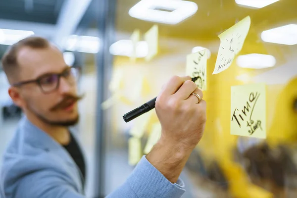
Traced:
[[[133, 43], [131, 40], [119, 40], [109, 47], [109, 52], [113, 55], [128, 56], [133, 54]], [[148, 55], [148, 43], [140, 41], [136, 45], [136, 57], [143, 58]]]

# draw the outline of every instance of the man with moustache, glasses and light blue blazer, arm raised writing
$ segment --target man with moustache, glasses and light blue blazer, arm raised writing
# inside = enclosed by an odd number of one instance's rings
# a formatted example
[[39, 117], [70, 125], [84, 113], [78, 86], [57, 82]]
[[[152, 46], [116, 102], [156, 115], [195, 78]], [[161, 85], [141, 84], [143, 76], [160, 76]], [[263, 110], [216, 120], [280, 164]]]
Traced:
[[[68, 127], [78, 122], [77, 73], [47, 40], [29, 37], [2, 59], [9, 96], [25, 117], [3, 159], [5, 198], [84, 198], [85, 163]], [[192, 94], [194, 93], [194, 94]], [[179, 175], [202, 137], [202, 92], [190, 77], [173, 77], [156, 100], [162, 136], [109, 198], [180, 198]]]

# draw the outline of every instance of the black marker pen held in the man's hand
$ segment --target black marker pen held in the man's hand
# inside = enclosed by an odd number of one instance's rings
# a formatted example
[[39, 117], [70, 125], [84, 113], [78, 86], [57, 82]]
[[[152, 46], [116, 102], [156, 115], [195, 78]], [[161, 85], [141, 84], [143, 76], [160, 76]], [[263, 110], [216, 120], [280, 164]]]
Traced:
[[[192, 78], [192, 81], [195, 82], [199, 77]], [[129, 113], [126, 113], [123, 115], [123, 119], [125, 122], [130, 122], [131, 120], [137, 118], [138, 116], [150, 111], [155, 107], [156, 98], [149, 100], [148, 102], [144, 103], [140, 107], [130, 111]]]

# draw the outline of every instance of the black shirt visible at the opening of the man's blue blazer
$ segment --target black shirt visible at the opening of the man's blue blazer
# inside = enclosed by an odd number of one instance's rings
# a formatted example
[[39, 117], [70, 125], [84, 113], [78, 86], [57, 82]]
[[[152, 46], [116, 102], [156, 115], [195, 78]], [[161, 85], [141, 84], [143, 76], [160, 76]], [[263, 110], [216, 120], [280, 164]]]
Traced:
[[69, 152], [69, 154], [73, 158], [74, 162], [80, 169], [80, 171], [82, 173], [82, 175], [80, 175], [80, 176], [81, 176], [82, 184], [84, 186], [85, 178], [86, 178], [85, 159], [84, 159], [83, 153], [82, 153], [79, 145], [77, 144], [75, 138], [73, 138], [71, 133], [70, 133], [70, 142], [68, 145], [64, 145], [64, 148], [66, 148], [66, 150]]

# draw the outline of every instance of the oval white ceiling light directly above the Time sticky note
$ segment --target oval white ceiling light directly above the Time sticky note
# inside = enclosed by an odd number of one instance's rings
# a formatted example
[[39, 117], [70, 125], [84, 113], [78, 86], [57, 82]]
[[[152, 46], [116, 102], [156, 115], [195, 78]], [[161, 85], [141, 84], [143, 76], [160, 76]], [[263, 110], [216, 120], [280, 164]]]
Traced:
[[276, 63], [276, 59], [272, 55], [250, 53], [238, 56], [236, 62], [238, 66], [243, 68], [263, 69], [273, 67]]

